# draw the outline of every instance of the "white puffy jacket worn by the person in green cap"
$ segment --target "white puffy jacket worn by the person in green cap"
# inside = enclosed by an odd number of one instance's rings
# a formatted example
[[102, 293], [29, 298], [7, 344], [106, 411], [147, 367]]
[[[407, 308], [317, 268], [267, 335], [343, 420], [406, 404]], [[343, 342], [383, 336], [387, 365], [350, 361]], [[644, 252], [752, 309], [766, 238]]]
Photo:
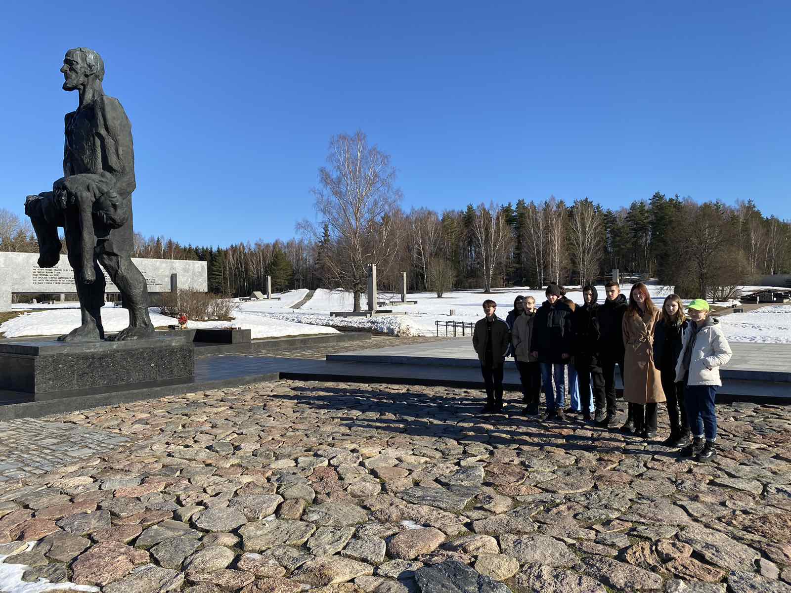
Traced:
[[721, 386], [720, 367], [731, 360], [731, 347], [722, 333], [719, 319], [707, 317], [703, 323], [696, 334], [689, 331], [682, 336], [681, 356], [676, 363], [676, 382], [683, 381], [686, 371], [683, 368], [684, 353], [687, 351], [687, 342], [694, 339], [687, 385]]

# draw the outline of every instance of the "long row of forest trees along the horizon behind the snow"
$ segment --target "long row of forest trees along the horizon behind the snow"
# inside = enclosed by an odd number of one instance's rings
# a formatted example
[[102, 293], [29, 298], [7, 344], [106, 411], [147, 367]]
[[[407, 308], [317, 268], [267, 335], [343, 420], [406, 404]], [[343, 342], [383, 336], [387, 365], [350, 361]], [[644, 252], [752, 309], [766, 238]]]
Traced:
[[[579, 213], [585, 207], [592, 213], [587, 230], [593, 241], [582, 246]], [[550, 198], [488, 208], [470, 204], [464, 210], [442, 213], [427, 209], [404, 213], [396, 208], [386, 216], [388, 240], [396, 248], [387, 265], [380, 265], [379, 278], [382, 289], [394, 292], [401, 271], [407, 271], [411, 290], [436, 288], [437, 274], [432, 276], [431, 270], [440, 268], [446, 270], [444, 278], [450, 278], [452, 287], [480, 288], [489, 268], [486, 258], [494, 258], [493, 287], [538, 286], [548, 281], [578, 285], [606, 278], [618, 268], [622, 274], [658, 278], [690, 293], [714, 296], [715, 289], [751, 283], [767, 274], [791, 273], [791, 223], [764, 216], [751, 200], [736, 206], [698, 204], [657, 192], [618, 210], [589, 200], [566, 205]], [[499, 247], [491, 252], [482, 241], [482, 217], [504, 223]], [[245, 296], [262, 290], [267, 275], [275, 291], [335, 288], [329, 264], [344, 257], [344, 246], [331, 239], [326, 226], [323, 230], [317, 240], [258, 240], [229, 247], [182, 245], [165, 236], [146, 239], [137, 234], [133, 255], [205, 261], [210, 292], [218, 294]], [[486, 239], [493, 243], [491, 236]], [[27, 221], [0, 210], [0, 251], [37, 250]], [[586, 268], [581, 259], [592, 260], [592, 272], [585, 271], [591, 264]]]

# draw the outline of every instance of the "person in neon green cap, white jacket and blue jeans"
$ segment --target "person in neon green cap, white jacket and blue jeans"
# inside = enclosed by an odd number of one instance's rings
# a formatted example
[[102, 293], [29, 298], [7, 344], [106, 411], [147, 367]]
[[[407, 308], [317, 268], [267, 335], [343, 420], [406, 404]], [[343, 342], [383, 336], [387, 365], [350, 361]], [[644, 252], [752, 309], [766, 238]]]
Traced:
[[[731, 347], [719, 319], [710, 315], [706, 300], [687, 305], [691, 331], [683, 334], [682, 356], [676, 363], [676, 381], [684, 384], [684, 402], [693, 440], [681, 449], [683, 457], [705, 462], [716, 455], [717, 413], [714, 397], [722, 386], [720, 367], [731, 359]], [[704, 436], [706, 441], [704, 443]]]

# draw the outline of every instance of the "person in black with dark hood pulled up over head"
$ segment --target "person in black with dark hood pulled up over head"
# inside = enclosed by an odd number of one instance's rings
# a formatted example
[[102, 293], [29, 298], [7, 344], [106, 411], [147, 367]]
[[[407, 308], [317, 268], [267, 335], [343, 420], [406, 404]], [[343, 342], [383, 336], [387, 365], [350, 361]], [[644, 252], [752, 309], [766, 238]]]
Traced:
[[[591, 413], [596, 410], [594, 420], [604, 420], [604, 374], [599, 361], [599, 293], [596, 286], [587, 285], [582, 289], [585, 304], [577, 306], [574, 311], [574, 365], [577, 367], [577, 379], [580, 383], [580, 401], [584, 420], [591, 420]], [[593, 394], [591, 396], [591, 381]]]

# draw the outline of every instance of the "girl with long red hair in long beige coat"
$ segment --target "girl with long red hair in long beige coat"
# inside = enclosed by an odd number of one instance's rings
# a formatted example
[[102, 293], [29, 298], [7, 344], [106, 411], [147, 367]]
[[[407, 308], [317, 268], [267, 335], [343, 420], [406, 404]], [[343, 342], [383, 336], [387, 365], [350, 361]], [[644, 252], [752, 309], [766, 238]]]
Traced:
[[653, 335], [661, 312], [642, 282], [632, 286], [623, 315], [623, 398], [632, 406], [634, 432], [644, 439], [657, 436], [657, 402], [664, 402], [662, 377], [653, 364]]

